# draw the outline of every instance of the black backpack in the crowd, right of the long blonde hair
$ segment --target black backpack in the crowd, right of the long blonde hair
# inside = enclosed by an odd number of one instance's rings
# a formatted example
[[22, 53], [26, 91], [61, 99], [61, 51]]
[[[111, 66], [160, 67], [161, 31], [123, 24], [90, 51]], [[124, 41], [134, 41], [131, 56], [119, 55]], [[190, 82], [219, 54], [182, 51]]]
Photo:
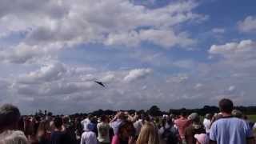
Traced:
[[177, 144], [178, 143], [178, 131], [174, 128], [174, 126], [171, 126], [168, 129], [165, 129], [162, 138], [166, 141], [168, 144]]

